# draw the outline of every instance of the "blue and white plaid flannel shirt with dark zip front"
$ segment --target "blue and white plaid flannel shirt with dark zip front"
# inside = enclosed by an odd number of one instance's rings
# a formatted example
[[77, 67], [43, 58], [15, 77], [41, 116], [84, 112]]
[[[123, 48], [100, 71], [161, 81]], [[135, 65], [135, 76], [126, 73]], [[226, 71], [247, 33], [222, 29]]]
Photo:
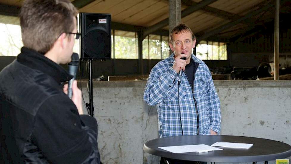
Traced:
[[[157, 105], [160, 137], [182, 135], [181, 119], [184, 135], [197, 134], [197, 115], [192, 88], [185, 73], [179, 75], [173, 68], [174, 54], [157, 63], [151, 70], [145, 86], [143, 99], [148, 105]], [[194, 79], [194, 97], [197, 101], [200, 134], [210, 134], [210, 129], [220, 134], [220, 101], [216, 93], [209, 68], [195, 55], [191, 55], [199, 63]]]

